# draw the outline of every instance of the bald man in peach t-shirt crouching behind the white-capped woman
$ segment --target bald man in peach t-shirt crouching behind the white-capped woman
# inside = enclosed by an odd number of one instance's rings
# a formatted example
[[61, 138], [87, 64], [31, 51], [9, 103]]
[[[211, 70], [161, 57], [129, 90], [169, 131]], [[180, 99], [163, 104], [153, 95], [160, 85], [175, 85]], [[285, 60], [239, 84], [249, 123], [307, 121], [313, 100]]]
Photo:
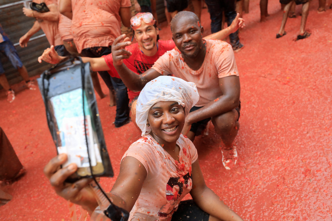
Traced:
[[232, 47], [224, 41], [202, 39], [204, 29], [192, 12], [179, 12], [172, 19], [171, 29], [176, 47], [141, 75], [123, 64], [123, 59], [131, 55], [124, 47], [131, 42], [124, 39], [124, 35], [118, 37], [112, 45], [114, 67], [132, 91], [140, 91], [160, 75], [173, 74], [194, 82], [200, 100], [186, 116], [182, 133], [194, 140], [211, 119], [223, 141], [222, 163], [229, 170], [237, 160], [233, 141], [239, 130], [240, 116], [240, 80]]

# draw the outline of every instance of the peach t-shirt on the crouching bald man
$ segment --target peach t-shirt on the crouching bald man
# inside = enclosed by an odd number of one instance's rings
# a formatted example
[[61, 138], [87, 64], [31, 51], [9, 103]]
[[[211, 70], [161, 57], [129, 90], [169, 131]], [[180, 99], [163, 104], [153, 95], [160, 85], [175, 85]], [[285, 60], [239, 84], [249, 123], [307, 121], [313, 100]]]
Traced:
[[152, 66], [162, 75], [173, 74], [197, 86], [200, 100], [195, 106], [203, 107], [222, 95], [219, 78], [239, 76], [232, 46], [222, 40], [206, 41], [207, 51], [202, 66], [191, 69], [182, 58], [177, 47], [163, 54]]

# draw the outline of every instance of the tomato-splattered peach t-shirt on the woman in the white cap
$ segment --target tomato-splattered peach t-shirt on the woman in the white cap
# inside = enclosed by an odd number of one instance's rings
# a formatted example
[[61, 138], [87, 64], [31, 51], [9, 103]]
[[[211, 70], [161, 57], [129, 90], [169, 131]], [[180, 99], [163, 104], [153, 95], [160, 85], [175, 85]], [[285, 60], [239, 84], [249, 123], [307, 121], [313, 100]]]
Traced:
[[198, 159], [196, 147], [182, 134], [176, 144], [180, 147], [179, 161], [150, 134], [131, 144], [124, 153], [122, 159], [127, 156], [137, 159], [147, 173], [128, 220], [169, 221], [192, 189], [192, 164]]

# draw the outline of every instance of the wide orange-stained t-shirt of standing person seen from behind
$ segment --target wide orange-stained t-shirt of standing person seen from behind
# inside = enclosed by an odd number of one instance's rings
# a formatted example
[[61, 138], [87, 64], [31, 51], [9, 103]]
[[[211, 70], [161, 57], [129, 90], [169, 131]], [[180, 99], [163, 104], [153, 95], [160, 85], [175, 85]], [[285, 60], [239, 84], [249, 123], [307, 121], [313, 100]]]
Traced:
[[107, 47], [121, 35], [120, 8], [130, 0], [72, 0], [71, 30], [77, 51], [88, 47]]

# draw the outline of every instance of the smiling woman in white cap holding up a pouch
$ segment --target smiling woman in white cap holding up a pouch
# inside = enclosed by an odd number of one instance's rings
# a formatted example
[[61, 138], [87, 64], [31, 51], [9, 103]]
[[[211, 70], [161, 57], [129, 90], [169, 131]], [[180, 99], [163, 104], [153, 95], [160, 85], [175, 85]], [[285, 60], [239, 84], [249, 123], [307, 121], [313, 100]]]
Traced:
[[[242, 220], [205, 184], [194, 144], [181, 134], [186, 113], [199, 99], [196, 85], [160, 76], [147, 83], [137, 100], [136, 123], [142, 137], [124, 153], [110, 192], [113, 203], [130, 211], [129, 220]], [[90, 215], [98, 206], [91, 179], [64, 183], [77, 166], [58, 169], [64, 154], [44, 169], [58, 195], [82, 205]], [[192, 200], [181, 201], [190, 193]]]

